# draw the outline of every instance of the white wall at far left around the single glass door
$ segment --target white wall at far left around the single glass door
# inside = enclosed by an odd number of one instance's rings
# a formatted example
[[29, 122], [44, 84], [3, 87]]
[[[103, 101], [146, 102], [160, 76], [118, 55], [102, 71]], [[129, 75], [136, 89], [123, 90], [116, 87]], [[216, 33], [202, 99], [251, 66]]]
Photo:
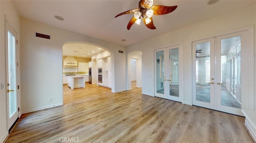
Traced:
[[[6, 136], [8, 135], [7, 129], [7, 98], [6, 98], [6, 53], [5, 53], [5, 16], [8, 23], [12, 26], [12, 28], [17, 32], [17, 39], [20, 41], [20, 18], [18, 13], [16, 12], [14, 6], [11, 1], [0, 0], [0, 83], [4, 84], [4, 89], [0, 88], [0, 143], [4, 141]], [[19, 42], [20, 43], [20, 42]], [[20, 62], [20, 44], [18, 43], [17, 48], [17, 61]], [[20, 72], [20, 67], [18, 67], [18, 72]], [[20, 76], [18, 76], [18, 84], [20, 85]], [[21, 89], [20, 89], [21, 90]], [[18, 104], [20, 107], [20, 90], [18, 92]], [[19, 116], [21, 112], [19, 112]]]

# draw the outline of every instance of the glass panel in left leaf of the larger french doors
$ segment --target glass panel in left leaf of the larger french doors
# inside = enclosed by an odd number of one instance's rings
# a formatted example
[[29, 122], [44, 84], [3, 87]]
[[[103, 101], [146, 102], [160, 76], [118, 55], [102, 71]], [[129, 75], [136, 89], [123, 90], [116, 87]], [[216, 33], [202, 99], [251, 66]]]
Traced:
[[210, 103], [210, 42], [196, 44], [196, 100]]

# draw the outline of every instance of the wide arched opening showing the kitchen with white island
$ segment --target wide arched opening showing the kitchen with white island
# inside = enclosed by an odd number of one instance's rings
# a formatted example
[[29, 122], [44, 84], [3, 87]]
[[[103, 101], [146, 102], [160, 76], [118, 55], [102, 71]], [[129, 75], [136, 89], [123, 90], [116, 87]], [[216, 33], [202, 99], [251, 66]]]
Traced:
[[[107, 51], [106, 48], [102, 48], [93, 43], [64, 43], [62, 47], [62, 84], [63, 86], [67, 86], [65, 90], [86, 88], [86, 84], [96, 84], [98, 86], [100, 85], [98, 82], [99, 74], [102, 74], [104, 79], [109, 78], [108, 82], [112, 83], [111, 57], [113, 57], [112, 54]], [[98, 69], [103, 69], [102, 73], [98, 73]], [[111, 88], [111, 85], [112, 84], [108, 84], [108, 88]]]

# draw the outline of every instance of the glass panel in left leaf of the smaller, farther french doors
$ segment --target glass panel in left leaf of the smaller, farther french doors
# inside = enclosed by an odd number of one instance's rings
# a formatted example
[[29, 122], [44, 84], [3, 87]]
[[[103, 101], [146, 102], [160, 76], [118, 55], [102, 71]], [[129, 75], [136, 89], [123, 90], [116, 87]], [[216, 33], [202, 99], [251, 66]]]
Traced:
[[157, 51], [156, 59], [156, 92], [164, 94], [164, 51]]

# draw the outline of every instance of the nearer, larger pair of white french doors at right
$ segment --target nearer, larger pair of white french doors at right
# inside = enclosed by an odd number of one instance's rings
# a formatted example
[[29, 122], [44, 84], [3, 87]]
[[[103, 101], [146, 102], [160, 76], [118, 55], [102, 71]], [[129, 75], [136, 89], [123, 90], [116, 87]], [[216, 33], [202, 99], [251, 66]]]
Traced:
[[193, 105], [243, 116], [248, 46], [246, 31], [192, 42]]

